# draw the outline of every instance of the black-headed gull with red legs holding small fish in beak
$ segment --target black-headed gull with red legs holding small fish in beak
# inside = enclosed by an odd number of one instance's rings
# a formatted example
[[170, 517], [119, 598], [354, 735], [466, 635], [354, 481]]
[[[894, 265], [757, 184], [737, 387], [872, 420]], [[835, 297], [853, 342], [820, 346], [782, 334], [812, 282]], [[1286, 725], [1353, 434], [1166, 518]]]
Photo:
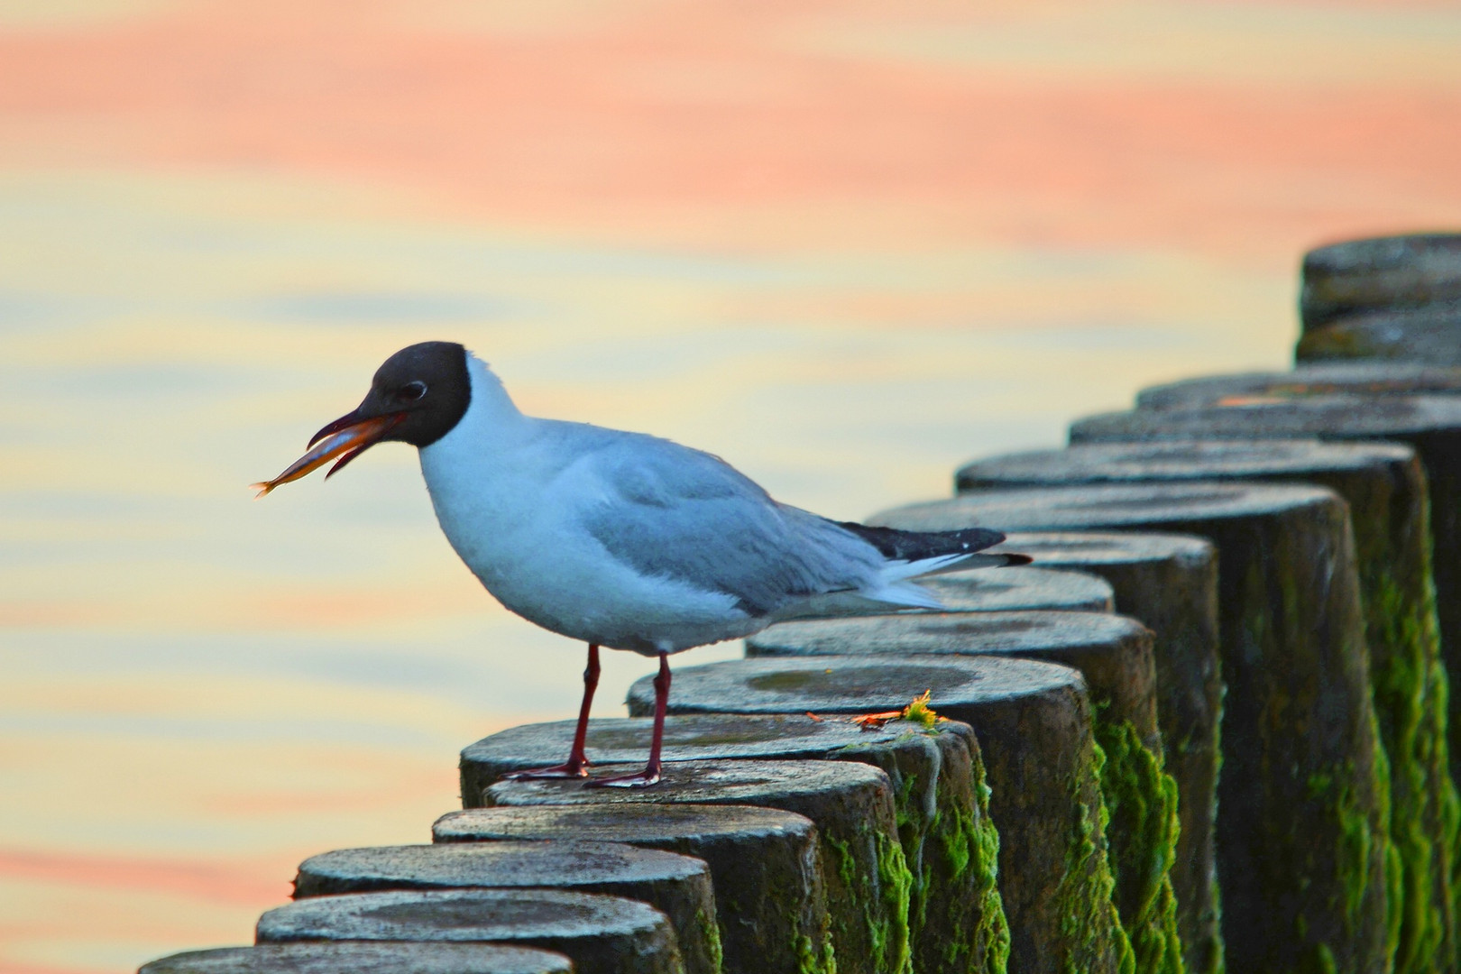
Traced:
[[453, 342], [422, 342], [377, 369], [359, 407], [326, 425], [263, 496], [377, 442], [416, 447], [437, 521], [507, 609], [589, 644], [568, 759], [522, 778], [586, 778], [599, 647], [659, 657], [649, 764], [595, 787], [659, 781], [669, 656], [795, 618], [941, 609], [920, 575], [1023, 565], [982, 553], [1004, 534], [900, 532], [780, 504], [725, 460], [638, 432], [526, 416]]

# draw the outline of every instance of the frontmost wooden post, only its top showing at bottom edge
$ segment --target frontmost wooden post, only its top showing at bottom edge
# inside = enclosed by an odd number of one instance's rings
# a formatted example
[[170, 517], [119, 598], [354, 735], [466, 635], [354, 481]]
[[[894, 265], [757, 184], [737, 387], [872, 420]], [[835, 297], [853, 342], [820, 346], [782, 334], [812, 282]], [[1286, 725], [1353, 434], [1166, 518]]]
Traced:
[[573, 974], [562, 954], [497, 943], [260, 943], [188, 951], [137, 974]]

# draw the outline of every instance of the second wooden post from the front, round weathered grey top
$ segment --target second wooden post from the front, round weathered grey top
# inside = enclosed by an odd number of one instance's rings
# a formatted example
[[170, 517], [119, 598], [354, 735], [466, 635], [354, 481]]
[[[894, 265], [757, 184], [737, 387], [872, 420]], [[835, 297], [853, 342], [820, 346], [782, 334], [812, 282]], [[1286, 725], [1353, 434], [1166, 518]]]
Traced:
[[675, 930], [646, 902], [558, 889], [352, 892], [298, 900], [259, 919], [259, 943], [453, 940], [539, 946], [576, 974], [682, 974]]

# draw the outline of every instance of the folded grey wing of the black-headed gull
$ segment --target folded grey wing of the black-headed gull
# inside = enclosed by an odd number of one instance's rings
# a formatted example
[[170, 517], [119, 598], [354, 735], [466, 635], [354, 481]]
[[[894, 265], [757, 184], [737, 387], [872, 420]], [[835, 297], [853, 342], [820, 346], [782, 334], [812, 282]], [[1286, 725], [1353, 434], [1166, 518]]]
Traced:
[[622, 435], [596, 451], [608, 489], [583, 524], [634, 571], [729, 594], [752, 616], [877, 575], [882, 556], [872, 545], [777, 504], [719, 457]]

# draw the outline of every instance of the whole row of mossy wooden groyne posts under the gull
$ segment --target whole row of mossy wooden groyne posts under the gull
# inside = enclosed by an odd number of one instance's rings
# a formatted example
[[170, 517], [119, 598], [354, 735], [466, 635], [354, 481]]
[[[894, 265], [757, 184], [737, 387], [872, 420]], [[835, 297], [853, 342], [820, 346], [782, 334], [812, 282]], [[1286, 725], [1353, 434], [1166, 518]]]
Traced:
[[1034, 565], [678, 669], [660, 786], [506, 781], [573, 724], [506, 730], [431, 843], [316, 856], [256, 946], [143, 974], [1461, 971], [1461, 237], [1313, 251], [1302, 305], [1294, 371], [877, 515]]

